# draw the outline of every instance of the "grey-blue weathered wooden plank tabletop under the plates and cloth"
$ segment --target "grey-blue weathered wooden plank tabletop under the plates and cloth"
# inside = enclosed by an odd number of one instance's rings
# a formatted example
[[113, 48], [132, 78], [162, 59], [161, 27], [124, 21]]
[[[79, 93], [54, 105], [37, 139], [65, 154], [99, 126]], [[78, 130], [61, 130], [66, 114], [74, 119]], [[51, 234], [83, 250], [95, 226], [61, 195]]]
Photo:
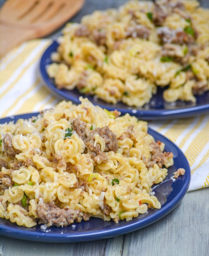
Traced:
[[[2, 4], [3, 1], [0, 3]], [[117, 7], [124, 0], [86, 0], [72, 21], [95, 9]], [[209, 0], [202, 0], [209, 7]], [[60, 33], [56, 31], [50, 37]], [[0, 235], [0, 256], [207, 256], [209, 255], [209, 188], [187, 192], [164, 218], [114, 238], [78, 243], [44, 243]]]

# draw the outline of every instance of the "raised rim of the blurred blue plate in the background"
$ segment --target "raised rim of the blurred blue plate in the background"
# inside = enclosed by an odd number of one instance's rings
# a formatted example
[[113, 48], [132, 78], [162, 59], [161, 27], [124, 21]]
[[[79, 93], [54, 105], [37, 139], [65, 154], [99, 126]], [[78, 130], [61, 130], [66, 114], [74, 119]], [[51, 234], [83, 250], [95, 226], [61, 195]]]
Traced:
[[[38, 76], [40, 78], [42, 85], [44, 85], [45, 88], [51, 91], [56, 97], [58, 96], [62, 100], [70, 100], [70, 101], [73, 101], [75, 104], [79, 104], [80, 103], [79, 98], [78, 97], [75, 98], [74, 96], [71, 96], [71, 90], [57, 89], [56, 86], [49, 81], [49, 76], [45, 68], [51, 61], [48, 55], [49, 53], [51, 55], [51, 53], [54, 52], [58, 46], [59, 46], [59, 43], [57, 43], [57, 40], [55, 38], [53, 42], [45, 49], [39, 61]], [[47, 65], [45, 65], [46, 60], [48, 62]], [[67, 95], [65, 91], [68, 92]], [[93, 96], [83, 95], [83, 94], [80, 94], [79, 96], [83, 96], [86, 98], [93, 97]], [[130, 115], [136, 115], [137, 117], [140, 117], [142, 120], [188, 118], [188, 117], [194, 116], [195, 114], [203, 114], [209, 110], [209, 103], [198, 105], [198, 106], [179, 107], [177, 109], [146, 110], [146, 109], [137, 109], [137, 107], [130, 107], [130, 106], [127, 106], [127, 108], [120, 108], [120, 107], [117, 107], [117, 104], [112, 104], [112, 106], [110, 107], [106, 105], [107, 104], [106, 102], [104, 101], [102, 102], [103, 104], [96, 104], [96, 101], [92, 101], [94, 105], [105, 107], [109, 111], [114, 111], [115, 109], [117, 109], [122, 114], [129, 113]]]

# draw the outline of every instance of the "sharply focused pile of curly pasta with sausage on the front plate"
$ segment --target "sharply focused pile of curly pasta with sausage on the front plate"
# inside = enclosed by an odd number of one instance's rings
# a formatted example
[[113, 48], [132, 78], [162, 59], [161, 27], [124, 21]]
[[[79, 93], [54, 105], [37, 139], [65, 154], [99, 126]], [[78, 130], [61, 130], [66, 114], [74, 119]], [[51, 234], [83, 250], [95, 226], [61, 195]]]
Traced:
[[0, 217], [67, 226], [131, 220], [161, 208], [152, 192], [173, 165], [147, 122], [80, 98], [0, 125]]

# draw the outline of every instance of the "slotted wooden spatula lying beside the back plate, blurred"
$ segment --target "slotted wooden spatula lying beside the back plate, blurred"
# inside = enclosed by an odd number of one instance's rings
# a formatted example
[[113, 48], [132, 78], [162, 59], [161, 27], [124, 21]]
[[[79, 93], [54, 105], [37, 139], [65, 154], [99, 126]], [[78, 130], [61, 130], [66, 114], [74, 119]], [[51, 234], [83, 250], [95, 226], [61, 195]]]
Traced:
[[26, 40], [49, 35], [83, 4], [84, 0], [7, 0], [0, 9], [0, 59]]

